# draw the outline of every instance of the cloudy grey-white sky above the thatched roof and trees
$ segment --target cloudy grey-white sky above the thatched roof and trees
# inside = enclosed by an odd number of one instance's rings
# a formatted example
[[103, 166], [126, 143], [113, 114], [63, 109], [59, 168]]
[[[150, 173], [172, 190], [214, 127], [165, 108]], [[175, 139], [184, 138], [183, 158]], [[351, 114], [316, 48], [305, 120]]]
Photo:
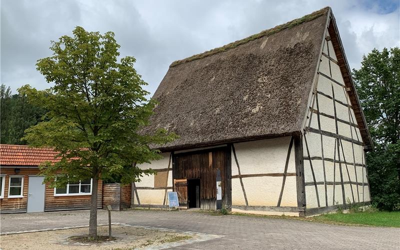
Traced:
[[331, 6], [351, 68], [372, 48], [399, 46], [398, 0], [1, 0], [1, 83], [49, 87], [35, 69], [50, 40], [113, 31], [153, 93], [169, 64]]

